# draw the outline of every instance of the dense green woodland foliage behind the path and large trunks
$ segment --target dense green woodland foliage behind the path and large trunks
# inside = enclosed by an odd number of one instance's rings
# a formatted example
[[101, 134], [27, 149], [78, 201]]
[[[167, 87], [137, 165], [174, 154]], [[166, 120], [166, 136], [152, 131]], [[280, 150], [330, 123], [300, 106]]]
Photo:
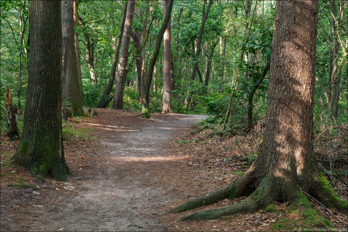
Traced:
[[[10, 87], [17, 110], [23, 110], [25, 105], [30, 49], [29, 5], [30, 1], [1, 1], [3, 132], [6, 132], [3, 121], [6, 87]], [[96, 107], [109, 81], [123, 5], [119, 1], [78, 1], [77, 5], [78, 23], [74, 32], [79, 41], [82, 104]], [[203, 10], [207, 11], [208, 2], [174, 2], [171, 14], [173, 112], [208, 114], [214, 116], [209, 118], [211, 121], [220, 124], [225, 121], [226, 125], [245, 128], [247, 109], [250, 108], [248, 96], [269, 62], [274, 5], [274, 1], [213, 1], [210, 10], [205, 12], [208, 16], [200, 44], [197, 45]], [[319, 2], [315, 120], [325, 122], [324, 125], [344, 123], [347, 118], [346, 7], [346, 1]], [[150, 63], [149, 57], [163, 21], [163, 7], [159, 1], [136, 1], [135, 9], [133, 33], [145, 33], [145, 38], [148, 37], [142, 53], [139, 53], [146, 66]], [[134, 45], [132, 37], [123, 109], [140, 111], [140, 84], [135, 62], [137, 49]], [[200, 53], [195, 57], [198, 47]], [[198, 62], [198, 72], [192, 78], [195, 60]], [[151, 82], [150, 112], [162, 111], [163, 63], [162, 43]], [[264, 117], [267, 84], [268, 74], [253, 97], [253, 121]], [[191, 97], [189, 105], [185, 102], [187, 96]], [[69, 105], [69, 99], [67, 102]], [[111, 105], [112, 101], [107, 107]], [[224, 120], [227, 112], [229, 118]]]

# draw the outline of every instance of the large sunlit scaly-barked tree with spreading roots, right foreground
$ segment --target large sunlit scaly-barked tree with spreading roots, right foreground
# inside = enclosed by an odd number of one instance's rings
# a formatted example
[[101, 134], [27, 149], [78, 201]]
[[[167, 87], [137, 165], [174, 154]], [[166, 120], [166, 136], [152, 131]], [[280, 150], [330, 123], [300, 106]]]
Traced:
[[258, 157], [235, 182], [186, 202], [169, 213], [248, 195], [234, 205], [198, 211], [180, 220], [254, 213], [274, 201], [288, 201], [300, 211], [311, 214], [313, 209], [309, 209], [309, 202], [304, 205], [308, 200], [303, 200], [306, 195], [301, 191], [347, 211], [347, 202], [340, 200], [319, 174], [313, 149], [317, 20], [318, 1], [276, 2], [266, 128]]

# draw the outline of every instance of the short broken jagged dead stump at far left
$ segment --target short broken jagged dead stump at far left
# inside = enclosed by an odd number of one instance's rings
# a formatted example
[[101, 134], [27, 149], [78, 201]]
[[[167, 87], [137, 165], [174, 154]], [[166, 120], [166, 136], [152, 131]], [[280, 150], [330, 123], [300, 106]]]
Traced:
[[10, 88], [7, 86], [5, 91], [5, 101], [6, 101], [6, 122], [7, 122], [7, 136], [9, 141], [14, 141], [19, 137], [19, 131], [16, 122], [16, 114], [13, 109], [12, 97]]

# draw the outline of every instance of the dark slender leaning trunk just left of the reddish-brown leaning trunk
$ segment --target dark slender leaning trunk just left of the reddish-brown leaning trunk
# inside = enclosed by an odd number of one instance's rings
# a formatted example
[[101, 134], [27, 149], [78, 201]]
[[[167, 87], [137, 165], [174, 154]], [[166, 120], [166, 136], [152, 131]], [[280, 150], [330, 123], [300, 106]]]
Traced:
[[106, 85], [105, 90], [104, 90], [101, 98], [99, 99], [99, 101], [97, 103], [97, 107], [98, 108], [105, 108], [107, 106], [106, 105], [104, 107], [105, 102], [106, 102], [106, 100], [108, 99], [108, 97], [109, 97], [109, 95], [111, 93], [113, 82], [115, 80], [116, 67], [117, 67], [117, 62], [118, 62], [118, 54], [119, 54], [120, 47], [121, 47], [121, 40], [122, 40], [122, 35], [123, 35], [123, 32], [124, 32], [125, 21], [126, 21], [127, 4], [128, 4], [128, 1], [125, 1], [124, 6], [123, 6], [123, 11], [122, 11], [122, 16], [121, 16], [120, 31], [118, 32], [116, 46], [115, 46], [115, 51], [114, 51], [114, 54], [113, 54], [112, 66], [111, 66], [111, 71], [110, 71], [110, 78], [109, 78], [108, 84]]

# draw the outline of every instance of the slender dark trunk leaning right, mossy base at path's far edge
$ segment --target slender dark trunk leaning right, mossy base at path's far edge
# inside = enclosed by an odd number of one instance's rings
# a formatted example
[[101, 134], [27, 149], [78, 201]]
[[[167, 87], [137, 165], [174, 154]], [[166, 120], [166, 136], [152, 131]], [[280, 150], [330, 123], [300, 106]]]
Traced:
[[163, 19], [161, 29], [157, 33], [155, 48], [153, 49], [153, 52], [152, 52], [150, 65], [149, 65], [149, 69], [148, 69], [147, 77], [146, 77], [146, 81], [145, 81], [144, 97], [141, 99], [141, 103], [142, 103], [141, 115], [143, 118], [152, 118], [150, 113], [149, 113], [149, 98], [150, 98], [150, 88], [151, 88], [153, 67], [155, 67], [155, 64], [157, 61], [159, 49], [161, 47], [161, 43], [162, 43], [162, 39], [163, 39], [163, 34], [167, 29], [169, 18], [170, 18], [171, 13], [172, 13], [172, 7], [173, 7], [173, 0], [170, 0], [168, 3], [167, 10], [166, 10], [166, 15]]

